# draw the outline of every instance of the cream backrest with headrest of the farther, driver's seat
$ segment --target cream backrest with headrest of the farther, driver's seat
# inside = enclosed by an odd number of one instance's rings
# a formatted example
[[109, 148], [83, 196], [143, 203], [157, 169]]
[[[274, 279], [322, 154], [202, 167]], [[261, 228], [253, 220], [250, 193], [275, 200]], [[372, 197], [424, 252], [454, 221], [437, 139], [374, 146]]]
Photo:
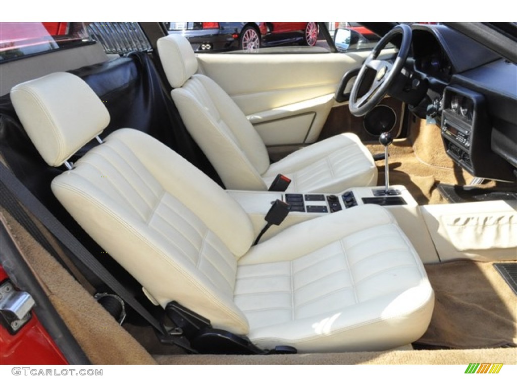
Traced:
[[158, 53], [181, 119], [226, 188], [266, 190], [261, 178], [269, 168], [264, 141], [214, 80], [196, 74], [197, 58], [187, 39], [160, 38]]

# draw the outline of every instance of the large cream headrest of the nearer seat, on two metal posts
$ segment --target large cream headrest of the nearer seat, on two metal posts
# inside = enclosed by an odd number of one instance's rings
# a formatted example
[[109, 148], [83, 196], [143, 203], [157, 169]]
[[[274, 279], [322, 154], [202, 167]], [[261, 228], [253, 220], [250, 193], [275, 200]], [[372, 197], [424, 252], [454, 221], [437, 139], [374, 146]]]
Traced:
[[57, 167], [110, 123], [95, 92], [77, 75], [58, 72], [11, 89], [11, 100], [29, 138], [47, 164]]

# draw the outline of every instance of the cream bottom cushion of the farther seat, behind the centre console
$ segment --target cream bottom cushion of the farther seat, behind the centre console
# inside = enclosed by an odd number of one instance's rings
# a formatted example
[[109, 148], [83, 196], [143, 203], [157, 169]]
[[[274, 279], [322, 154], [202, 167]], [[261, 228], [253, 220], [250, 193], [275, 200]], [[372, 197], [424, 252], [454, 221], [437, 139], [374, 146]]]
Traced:
[[262, 175], [267, 186], [278, 173], [291, 179], [288, 192], [337, 193], [377, 184], [373, 157], [352, 133], [316, 142], [271, 164]]

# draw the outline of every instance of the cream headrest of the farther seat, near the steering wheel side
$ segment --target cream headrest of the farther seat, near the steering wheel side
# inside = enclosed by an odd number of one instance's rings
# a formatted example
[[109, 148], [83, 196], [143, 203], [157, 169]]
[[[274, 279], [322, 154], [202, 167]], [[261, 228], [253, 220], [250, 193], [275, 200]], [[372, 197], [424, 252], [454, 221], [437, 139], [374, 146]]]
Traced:
[[158, 39], [158, 55], [172, 87], [183, 86], [197, 71], [197, 58], [187, 38], [168, 35]]

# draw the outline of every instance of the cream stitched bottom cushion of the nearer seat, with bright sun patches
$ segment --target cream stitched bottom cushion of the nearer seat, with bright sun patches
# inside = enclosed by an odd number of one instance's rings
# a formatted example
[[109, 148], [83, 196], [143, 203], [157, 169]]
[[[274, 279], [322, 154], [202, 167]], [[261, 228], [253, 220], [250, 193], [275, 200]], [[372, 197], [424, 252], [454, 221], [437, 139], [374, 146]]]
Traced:
[[434, 295], [392, 215], [364, 205], [253, 247], [238, 262], [235, 303], [263, 348], [384, 350], [425, 332]]

